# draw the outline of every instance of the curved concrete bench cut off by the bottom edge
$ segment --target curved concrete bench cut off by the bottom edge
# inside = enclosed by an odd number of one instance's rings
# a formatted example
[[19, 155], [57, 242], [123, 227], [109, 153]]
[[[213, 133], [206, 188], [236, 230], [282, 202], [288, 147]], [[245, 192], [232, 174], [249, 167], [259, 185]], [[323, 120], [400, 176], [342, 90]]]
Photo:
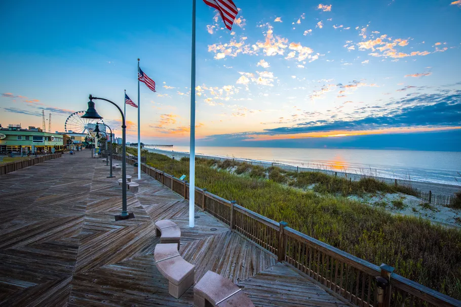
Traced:
[[208, 271], [194, 287], [194, 306], [205, 307], [206, 302], [213, 306], [254, 307], [248, 296], [232, 281], [219, 274]]

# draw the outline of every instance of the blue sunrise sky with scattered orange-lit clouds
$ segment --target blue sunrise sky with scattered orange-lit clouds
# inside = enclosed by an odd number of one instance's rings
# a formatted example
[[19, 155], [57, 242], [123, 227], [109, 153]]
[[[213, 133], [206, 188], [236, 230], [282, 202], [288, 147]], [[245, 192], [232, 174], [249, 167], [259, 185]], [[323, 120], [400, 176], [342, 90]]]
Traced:
[[[197, 145], [461, 151], [461, 1], [234, 2], [229, 31], [197, 1]], [[138, 103], [140, 58], [141, 141], [187, 145], [191, 3], [1, 2], [0, 123]]]

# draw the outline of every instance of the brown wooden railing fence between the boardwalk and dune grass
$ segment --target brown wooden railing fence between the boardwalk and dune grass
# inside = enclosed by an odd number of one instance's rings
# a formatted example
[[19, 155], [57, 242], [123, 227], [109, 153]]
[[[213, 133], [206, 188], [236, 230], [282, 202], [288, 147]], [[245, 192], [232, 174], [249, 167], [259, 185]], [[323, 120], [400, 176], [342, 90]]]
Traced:
[[[121, 156], [113, 155], [121, 160]], [[134, 164], [132, 158], [127, 163]], [[141, 165], [141, 171], [188, 199], [189, 184], [168, 173]], [[392, 273], [393, 268], [376, 266], [300, 233], [285, 222], [275, 222], [228, 201], [206, 189], [195, 188], [195, 203], [229, 228], [310, 277], [323, 289], [361, 307], [461, 306], [461, 301]], [[382, 302], [377, 301], [376, 277], [388, 280]]]

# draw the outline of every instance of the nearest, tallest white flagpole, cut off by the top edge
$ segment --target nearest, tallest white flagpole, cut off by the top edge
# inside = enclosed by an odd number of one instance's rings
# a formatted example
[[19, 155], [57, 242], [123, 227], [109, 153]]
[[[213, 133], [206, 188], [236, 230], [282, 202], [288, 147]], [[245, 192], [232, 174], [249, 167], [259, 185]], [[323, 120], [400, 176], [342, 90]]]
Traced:
[[195, 218], [195, 15], [196, 0], [192, 0], [192, 65], [190, 75], [190, 154], [189, 154], [189, 227]]

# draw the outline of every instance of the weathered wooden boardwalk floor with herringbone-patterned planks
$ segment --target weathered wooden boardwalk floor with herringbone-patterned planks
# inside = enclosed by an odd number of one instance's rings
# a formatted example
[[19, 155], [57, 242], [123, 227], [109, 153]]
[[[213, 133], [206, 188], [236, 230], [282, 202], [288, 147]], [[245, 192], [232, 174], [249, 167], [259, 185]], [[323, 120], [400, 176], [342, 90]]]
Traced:
[[199, 209], [188, 228], [187, 202], [144, 174], [128, 192], [136, 218], [115, 222], [121, 189], [106, 176], [83, 151], [0, 177], [0, 306], [192, 306], [193, 288], [170, 296], [153, 262], [153, 222], [163, 218], [180, 226], [196, 282], [217, 272], [256, 306], [344, 305]]

